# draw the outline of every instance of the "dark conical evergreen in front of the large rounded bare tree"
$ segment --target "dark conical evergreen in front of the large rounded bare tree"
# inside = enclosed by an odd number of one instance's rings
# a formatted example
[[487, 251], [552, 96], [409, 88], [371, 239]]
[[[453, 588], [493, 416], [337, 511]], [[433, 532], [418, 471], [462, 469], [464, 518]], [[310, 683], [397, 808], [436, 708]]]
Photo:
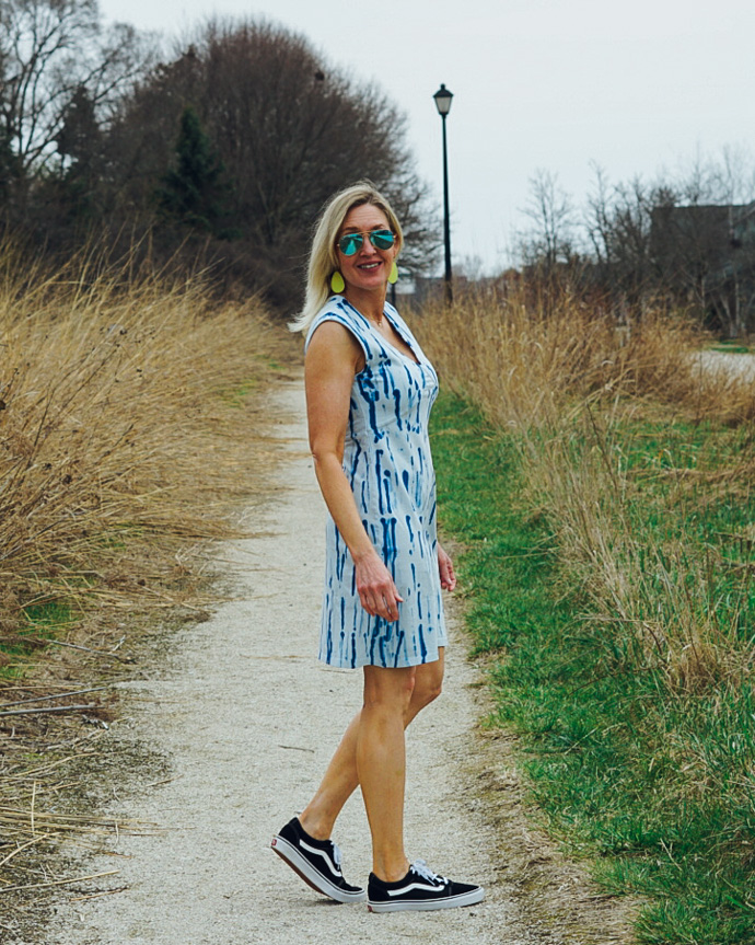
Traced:
[[175, 152], [176, 165], [163, 176], [163, 186], [156, 192], [163, 214], [196, 230], [228, 238], [221, 227], [229, 191], [223, 164], [190, 106], [181, 116]]

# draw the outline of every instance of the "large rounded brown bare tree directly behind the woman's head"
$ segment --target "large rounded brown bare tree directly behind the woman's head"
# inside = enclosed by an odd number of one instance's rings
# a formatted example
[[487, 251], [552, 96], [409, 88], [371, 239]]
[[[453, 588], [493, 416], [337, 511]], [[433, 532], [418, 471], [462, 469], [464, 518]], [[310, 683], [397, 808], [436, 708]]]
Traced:
[[[395, 201], [408, 237], [403, 263], [432, 263], [440, 228], [403, 115], [380, 89], [324, 62], [305, 38], [265, 22], [210, 22], [121, 102], [109, 135], [119, 211], [149, 210], [187, 106], [232, 185], [224, 227], [239, 231], [246, 272], [276, 301], [290, 304], [301, 285], [310, 228], [325, 200], [360, 177]], [[232, 252], [223, 249], [225, 257]]]

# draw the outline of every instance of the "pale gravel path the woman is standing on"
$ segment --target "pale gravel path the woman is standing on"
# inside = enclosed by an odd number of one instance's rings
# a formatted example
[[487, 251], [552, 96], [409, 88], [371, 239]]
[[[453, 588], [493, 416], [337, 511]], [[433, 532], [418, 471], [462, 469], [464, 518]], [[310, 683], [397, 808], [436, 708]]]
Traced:
[[[408, 738], [407, 844], [434, 869], [483, 883], [477, 907], [373, 915], [314, 894], [269, 849], [271, 834], [301, 810], [361, 695], [361, 676], [315, 660], [323, 573], [324, 505], [306, 450], [301, 383], [281, 389], [272, 417], [286, 453], [279, 489], [258, 538], [222, 549], [235, 599], [206, 623], [179, 632], [166, 667], [130, 683], [126, 717], [112, 738], [150, 745], [171, 780], [114, 803], [124, 817], [163, 828], [121, 835], [88, 857], [96, 898], [61, 894], [50, 929], [56, 945], [318, 945], [414, 941], [532, 941], [511, 927], [516, 909], [497, 881], [496, 851], [468, 771], [477, 715], [476, 672], [451, 621], [445, 692]], [[345, 873], [365, 881], [369, 832], [361, 796], [335, 835]], [[112, 891], [119, 890], [119, 891]], [[537, 941], [543, 941], [537, 938]]]

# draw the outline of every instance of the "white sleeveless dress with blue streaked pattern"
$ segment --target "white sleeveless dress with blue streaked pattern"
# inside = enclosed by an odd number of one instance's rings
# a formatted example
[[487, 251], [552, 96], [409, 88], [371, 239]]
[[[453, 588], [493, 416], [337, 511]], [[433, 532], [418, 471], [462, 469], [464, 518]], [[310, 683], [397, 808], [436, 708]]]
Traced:
[[359, 602], [351, 554], [328, 516], [318, 658], [329, 666], [417, 666], [446, 645], [438, 573], [435, 475], [428, 418], [438, 376], [393, 306], [385, 318], [417, 361], [391, 345], [353, 306], [332, 296], [309, 331], [345, 325], [365, 366], [353, 379], [344, 472], [372, 544], [398, 593], [398, 620], [371, 616]]

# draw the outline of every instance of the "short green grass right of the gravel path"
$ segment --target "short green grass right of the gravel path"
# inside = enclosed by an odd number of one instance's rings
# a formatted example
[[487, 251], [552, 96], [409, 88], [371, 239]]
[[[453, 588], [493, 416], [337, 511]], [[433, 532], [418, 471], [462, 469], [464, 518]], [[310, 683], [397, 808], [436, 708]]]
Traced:
[[[605, 888], [647, 898], [639, 941], [755, 942], [755, 691], [746, 672], [674, 688], [625, 627], [591, 619], [559, 556], [558, 522], [525, 505], [527, 470], [513, 436], [442, 396], [432, 437], [440, 521], [466, 546], [460, 584], [474, 646], [493, 657], [488, 722], [521, 735], [522, 764], [554, 834], [592, 858]], [[623, 511], [640, 553], [644, 544], [683, 548], [688, 561], [670, 553], [667, 574], [684, 581], [699, 572], [690, 606], [745, 653], [755, 634], [754, 542], [742, 530], [755, 504], [747, 488], [706, 486], [700, 474], [752, 449], [746, 430], [646, 422], [612, 431], [611, 446], [636, 487]], [[665, 606], [652, 568], [646, 584], [647, 607]]]

